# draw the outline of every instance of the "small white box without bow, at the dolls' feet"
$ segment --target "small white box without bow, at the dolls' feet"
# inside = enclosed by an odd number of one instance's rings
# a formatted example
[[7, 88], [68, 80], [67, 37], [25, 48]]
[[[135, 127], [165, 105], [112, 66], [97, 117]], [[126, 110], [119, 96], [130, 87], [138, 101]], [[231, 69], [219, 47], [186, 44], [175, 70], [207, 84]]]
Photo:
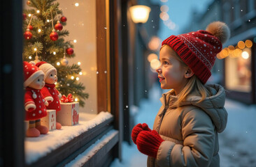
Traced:
[[49, 131], [56, 129], [56, 110], [48, 109], [47, 116], [41, 118], [41, 125], [48, 127]]

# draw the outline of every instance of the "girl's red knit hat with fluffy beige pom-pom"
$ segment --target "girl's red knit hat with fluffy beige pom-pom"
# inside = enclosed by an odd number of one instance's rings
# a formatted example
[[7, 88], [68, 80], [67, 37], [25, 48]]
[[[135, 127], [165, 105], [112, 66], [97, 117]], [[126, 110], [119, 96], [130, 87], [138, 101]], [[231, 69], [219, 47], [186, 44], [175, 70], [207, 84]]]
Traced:
[[171, 35], [162, 42], [169, 45], [186, 63], [203, 84], [211, 77], [216, 54], [229, 39], [230, 31], [223, 22], [209, 24], [206, 31], [199, 30], [180, 35]]

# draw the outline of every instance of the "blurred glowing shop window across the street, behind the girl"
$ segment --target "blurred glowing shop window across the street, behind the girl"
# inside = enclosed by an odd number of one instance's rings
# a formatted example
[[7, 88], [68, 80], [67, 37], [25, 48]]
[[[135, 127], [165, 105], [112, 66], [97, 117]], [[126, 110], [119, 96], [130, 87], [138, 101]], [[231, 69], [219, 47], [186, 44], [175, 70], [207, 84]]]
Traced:
[[250, 93], [252, 90], [251, 57], [253, 42], [239, 41], [222, 49], [218, 58], [225, 58], [225, 86], [228, 90]]

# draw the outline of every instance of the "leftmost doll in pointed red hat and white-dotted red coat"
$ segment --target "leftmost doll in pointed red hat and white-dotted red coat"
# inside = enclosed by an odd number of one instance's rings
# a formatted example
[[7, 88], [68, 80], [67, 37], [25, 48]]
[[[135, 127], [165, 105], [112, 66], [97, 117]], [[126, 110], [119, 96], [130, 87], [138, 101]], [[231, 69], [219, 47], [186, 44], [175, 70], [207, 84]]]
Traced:
[[41, 94], [41, 88], [45, 85], [43, 78], [45, 74], [32, 63], [23, 62], [24, 87], [24, 109], [26, 110], [25, 120], [29, 120], [28, 137], [38, 137], [40, 134], [47, 134], [48, 128], [41, 125], [41, 118], [47, 116], [46, 107], [48, 102]]

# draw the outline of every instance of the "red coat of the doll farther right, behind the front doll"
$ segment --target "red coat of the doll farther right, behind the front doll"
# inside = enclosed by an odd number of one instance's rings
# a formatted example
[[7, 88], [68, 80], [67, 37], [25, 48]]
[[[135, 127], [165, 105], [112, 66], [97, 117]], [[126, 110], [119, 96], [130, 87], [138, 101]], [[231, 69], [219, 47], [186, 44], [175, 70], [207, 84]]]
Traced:
[[49, 105], [46, 106], [46, 109], [55, 109], [56, 112], [60, 111], [60, 102], [59, 102], [59, 91], [55, 88], [55, 84], [45, 84], [41, 89], [43, 97], [51, 96], [53, 101], [49, 101]]

